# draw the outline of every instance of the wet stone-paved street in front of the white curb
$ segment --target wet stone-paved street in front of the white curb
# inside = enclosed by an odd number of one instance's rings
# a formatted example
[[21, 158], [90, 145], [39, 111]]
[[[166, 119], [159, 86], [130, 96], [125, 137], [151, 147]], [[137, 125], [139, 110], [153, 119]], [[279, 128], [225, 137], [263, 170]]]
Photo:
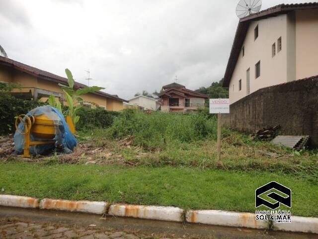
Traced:
[[0, 206], [0, 239], [317, 239], [297, 234]]

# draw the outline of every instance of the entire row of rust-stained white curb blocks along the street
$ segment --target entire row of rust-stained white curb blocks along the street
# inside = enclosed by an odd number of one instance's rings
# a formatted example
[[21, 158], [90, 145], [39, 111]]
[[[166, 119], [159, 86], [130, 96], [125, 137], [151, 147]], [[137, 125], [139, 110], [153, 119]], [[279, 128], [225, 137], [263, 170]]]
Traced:
[[[118, 217], [133, 217], [141, 219], [160, 220], [168, 222], [199, 223], [229, 227], [244, 227], [254, 229], [269, 229], [267, 221], [256, 221], [253, 213], [236, 213], [220, 210], [188, 210], [176, 207], [145, 206], [130, 204], [113, 204], [93, 201], [70, 201], [43, 199], [39, 204], [36, 198], [0, 195], [0, 206], [40, 208], [81, 212], [90, 214], [108, 214]], [[184, 217], [185, 216], [185, 217]], [[289, 231], [318, 234], [318, 218], [292, 216], [292, 223], [273, 223], [275, 231]]]

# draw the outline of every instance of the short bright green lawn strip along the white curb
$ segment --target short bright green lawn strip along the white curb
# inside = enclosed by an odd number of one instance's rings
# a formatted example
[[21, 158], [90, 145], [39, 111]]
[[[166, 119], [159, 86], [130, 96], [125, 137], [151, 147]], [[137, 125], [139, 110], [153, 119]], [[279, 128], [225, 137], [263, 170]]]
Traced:
[[255, 189], [273, 180], [291, 188], [293, 215], [318, 217], [318, 183], [313, 176], [169, 166], [0, 163], [0, 188], [5, 189], [0, 193], [184, 209], [254, 212]]

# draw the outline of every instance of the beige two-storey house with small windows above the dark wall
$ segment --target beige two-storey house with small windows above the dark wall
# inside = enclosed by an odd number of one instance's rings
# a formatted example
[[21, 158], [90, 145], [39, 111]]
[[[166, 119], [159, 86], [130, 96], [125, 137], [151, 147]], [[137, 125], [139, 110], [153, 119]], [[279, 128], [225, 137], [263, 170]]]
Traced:
[[239, 20], [224, 76], [230, 102], [318, 75], [318, 3], [280, 4]]

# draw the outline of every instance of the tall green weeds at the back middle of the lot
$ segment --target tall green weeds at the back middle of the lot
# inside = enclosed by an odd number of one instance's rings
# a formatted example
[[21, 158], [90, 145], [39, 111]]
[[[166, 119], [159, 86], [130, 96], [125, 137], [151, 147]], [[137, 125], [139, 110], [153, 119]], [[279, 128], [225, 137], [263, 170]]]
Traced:
[[216, 119], [204, 114], [168, 114], [124, 111], [107, 130], [112, 138], [133, 136], [133, 144], [147, 150], [164, 149], [169, 145], [216, 139]]

